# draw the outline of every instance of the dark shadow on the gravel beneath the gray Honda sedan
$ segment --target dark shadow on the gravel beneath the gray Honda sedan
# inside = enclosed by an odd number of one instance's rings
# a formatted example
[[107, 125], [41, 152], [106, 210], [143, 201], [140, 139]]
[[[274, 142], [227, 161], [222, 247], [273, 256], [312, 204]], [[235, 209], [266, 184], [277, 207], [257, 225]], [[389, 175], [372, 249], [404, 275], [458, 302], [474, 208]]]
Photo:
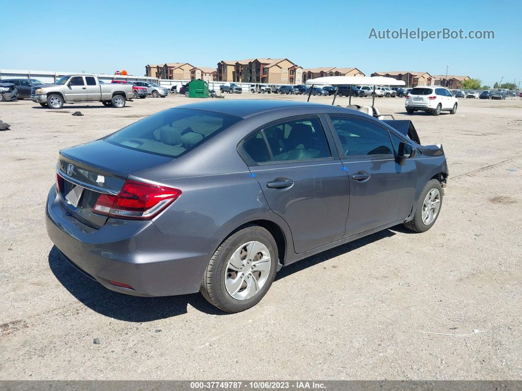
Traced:
[[[395, 232], [390, 230], [379, 231], [353, 242], [304, 258], [279, 270], [276, 275], [276, 281], [393, 235], [395, 235]], [[49, 266], [54, 276], [70, 294], [91, 310], [110, 318], [125, 322], [151, 322], [183, 315], [187, 312], [188, 304], [207, 314], [228, 314], [208, 303], [199, 293], [169, 297], [138, 297], [111, 291], [70, 265], [56, 246], [51, 248], [48, 258]]]

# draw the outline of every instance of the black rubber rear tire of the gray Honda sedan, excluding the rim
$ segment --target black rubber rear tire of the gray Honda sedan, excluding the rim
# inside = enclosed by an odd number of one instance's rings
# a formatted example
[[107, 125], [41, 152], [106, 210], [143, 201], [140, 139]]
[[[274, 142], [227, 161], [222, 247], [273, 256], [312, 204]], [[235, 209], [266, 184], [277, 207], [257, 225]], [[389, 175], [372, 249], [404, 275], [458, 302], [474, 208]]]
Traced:
[[[227, 273], [227, 263], [232, 254], [243, 243], [249, 241], [263, 243], [270, 253], [271, 266], [267, 280], [262, 288], [250, 299], [238, 300], [232, 298], [225, 287], [225, 274]], [[212, 255], [210, 262], [205, 270], [203, 281], [201, 281], [200, 292], [207, 301], [226, 312], [241, 312], [256, 305], [270, 289], [276, 277], [278, 264], [277, 244], [270, 232], [266, 229], [248, 225], [234, 231], [224, 240]]]

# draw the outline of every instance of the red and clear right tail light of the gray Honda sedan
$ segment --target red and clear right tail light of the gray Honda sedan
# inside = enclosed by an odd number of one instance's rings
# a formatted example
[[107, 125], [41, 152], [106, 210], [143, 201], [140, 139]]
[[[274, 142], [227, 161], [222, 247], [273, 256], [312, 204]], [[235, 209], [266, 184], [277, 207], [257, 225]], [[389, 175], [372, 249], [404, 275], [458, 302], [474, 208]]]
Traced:
[[176, 188], [126, 181], [118, 195], [101, 194], [92, 210], [110, 217], [149, 220], [180, 195]]

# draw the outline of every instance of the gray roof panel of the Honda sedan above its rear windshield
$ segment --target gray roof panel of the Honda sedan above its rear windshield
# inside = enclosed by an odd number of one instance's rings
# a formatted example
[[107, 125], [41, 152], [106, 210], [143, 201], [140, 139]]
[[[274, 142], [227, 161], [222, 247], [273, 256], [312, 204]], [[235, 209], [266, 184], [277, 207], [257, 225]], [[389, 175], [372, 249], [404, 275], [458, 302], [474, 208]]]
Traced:
[[264, 100], [264, 99], [235, 99], [228, 101], [208, 101], [183, 104], [176, 106], [174, 109], [193, 109], [212, 111], [217, 113], [223, 113], [228, 115], [235, 115], [242, 118], [251, 117], [256, 114], [262, 114], [267, 111], [292, 111], [293, 109], [310, 108], [311, 111], [317, 113], [326, 112], [343, 112], [352, 111], [349, 109], [341, 108], [340, 106], [333, 106], [322, 103], [311, 103], [311, 102], [293, 102], [293, 101], [280, 101], [280, 100]]

